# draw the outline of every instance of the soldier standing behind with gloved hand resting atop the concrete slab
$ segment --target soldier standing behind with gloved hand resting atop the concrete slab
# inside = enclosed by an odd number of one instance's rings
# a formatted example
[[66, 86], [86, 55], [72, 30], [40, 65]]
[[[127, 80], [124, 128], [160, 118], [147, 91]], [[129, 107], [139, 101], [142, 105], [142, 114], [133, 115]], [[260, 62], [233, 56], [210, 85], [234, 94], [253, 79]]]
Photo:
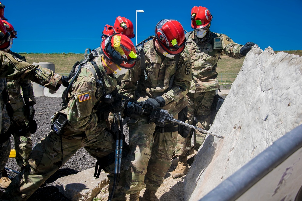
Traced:
[[[188, 119], [190, 124], [197, 124], [205, 130], [209, 129], [211, 106], [219, 89], [217, 79], [217, 62], [220, 55], [243, 58], [255, 43], [248, 42], [245, 46], [233, 42], [225, 34], [210, 31], [212, 15], [207, 8], [194, 6], [191, 10], [191, 27], [194, 31], [186, 34], [188, 37], [186, 46], [191, 55], [193, 79], [191, 88], [187, 94]], [[190, 132], [187, 137], [179, 133], [175, 155], [178, 157], [178, 166], [172, 172], [172, 177], [181, 177], [187, 174], [187, 155], [190, 154], [191, 137], [194, 141], [194, 149], [197, 150], [204, 141], [205, 133], [199, 131]]]

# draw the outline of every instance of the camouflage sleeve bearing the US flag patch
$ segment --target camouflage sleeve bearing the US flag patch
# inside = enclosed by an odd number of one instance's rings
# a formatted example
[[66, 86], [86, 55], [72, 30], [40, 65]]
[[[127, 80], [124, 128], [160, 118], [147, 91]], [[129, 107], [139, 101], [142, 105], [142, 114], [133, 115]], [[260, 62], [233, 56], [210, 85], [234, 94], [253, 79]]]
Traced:
[[67, 106], [67, 119], [73, 129], [88, 131], [98, 124], [98, 117], [92, 112], [95, 105], [96, 84], [85, 76], [78, 77], [72, 86], [72, 96]]

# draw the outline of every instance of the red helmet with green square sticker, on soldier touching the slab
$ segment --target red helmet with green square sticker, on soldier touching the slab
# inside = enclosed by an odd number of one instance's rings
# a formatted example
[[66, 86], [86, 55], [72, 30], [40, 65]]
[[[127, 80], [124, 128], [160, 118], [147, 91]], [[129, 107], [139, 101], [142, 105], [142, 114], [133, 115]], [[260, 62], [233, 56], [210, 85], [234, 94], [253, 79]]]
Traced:
[[194, 6], [191, 10], [192, 29], [202, 29], [207, 27], [213, 19], [209, 9], [202, 6]]

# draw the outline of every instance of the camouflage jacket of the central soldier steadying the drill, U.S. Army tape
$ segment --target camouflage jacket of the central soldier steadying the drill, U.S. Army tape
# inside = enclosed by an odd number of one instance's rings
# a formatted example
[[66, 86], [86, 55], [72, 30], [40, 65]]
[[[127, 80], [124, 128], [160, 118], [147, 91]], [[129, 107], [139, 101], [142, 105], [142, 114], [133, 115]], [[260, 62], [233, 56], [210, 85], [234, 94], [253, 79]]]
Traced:
[[138, 101], [162, 96], [166, 102], [162, 108], [176, 115], [187, 105], [187, 99], [184, 97], [188, 93], [192, 79], [190, 55], [185, 49], [182, 55], [178, 56], [178, 65], [175, 68], [175, 57], [159, 55], [154, 47], [155, 40], [156, 38], [147, 41], [144, 45], [143, 73], [140, 62], [137, 62], [122, 79], [120, 93]]

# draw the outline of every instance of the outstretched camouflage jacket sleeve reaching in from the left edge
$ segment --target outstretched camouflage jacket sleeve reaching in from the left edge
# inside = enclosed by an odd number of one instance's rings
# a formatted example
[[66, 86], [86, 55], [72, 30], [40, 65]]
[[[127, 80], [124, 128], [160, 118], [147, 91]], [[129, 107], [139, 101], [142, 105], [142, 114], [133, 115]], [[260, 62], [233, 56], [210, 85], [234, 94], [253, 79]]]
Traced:
[[56, 91], [61, 84], [61, 76], [53, 73], [53, 71], [29, 64], [19, 58], [0, 51], [0, 77], [6, 77], [11, 80], [31, 80], [40, 85]]

